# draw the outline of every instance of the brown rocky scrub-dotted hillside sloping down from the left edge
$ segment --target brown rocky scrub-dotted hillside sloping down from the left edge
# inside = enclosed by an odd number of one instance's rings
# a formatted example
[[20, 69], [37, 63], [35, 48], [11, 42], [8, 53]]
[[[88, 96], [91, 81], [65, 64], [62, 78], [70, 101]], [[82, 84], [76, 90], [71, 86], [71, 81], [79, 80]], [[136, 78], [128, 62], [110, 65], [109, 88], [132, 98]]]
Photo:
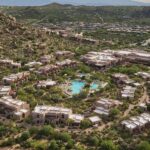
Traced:
[[17, 61], [38, 59], [55, 50], [75, 50], [77, 45], [41, 29], [18, 23], [14, 17], [0, 13], [0, 56]]

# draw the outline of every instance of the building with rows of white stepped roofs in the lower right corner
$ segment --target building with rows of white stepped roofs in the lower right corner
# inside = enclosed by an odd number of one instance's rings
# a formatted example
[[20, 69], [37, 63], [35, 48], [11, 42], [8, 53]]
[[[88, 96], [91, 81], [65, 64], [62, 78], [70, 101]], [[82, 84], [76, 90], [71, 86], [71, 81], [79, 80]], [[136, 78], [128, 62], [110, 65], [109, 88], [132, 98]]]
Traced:
[[150, 125], [150, 114], [143, 113], [140, 116], [131, 117], [129, 120], [122, 121], [121, 125], [130, 133], [140, 132]]

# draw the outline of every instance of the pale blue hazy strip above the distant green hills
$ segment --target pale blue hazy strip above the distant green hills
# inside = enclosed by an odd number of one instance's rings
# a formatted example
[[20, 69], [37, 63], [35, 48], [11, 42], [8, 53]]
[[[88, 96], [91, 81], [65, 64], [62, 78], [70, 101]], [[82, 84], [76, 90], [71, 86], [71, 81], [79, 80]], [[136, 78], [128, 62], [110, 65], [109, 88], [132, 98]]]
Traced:
[[[0, 0], [0, 5], [38, 6], [53, 2], [75, 5], [147, 5], [150, 0]], [[138, 3], [142, 2], [142, 3]]]

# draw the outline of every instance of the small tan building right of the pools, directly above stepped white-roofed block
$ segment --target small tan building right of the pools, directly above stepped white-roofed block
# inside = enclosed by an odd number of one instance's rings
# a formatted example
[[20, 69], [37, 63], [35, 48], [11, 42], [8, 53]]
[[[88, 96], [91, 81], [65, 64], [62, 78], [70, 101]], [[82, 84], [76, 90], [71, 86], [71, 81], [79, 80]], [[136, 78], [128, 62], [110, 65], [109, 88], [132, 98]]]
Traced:
[[121, 74], [121, 73], [115, 73], [115, 74], [113, 74], [112, 78], [119, 85], [122, 85], [122, 84], [129, 85], [129, 84], [133, 84], [134, 83], [134, 80], [131, 80], [128, 77], [128, 75]]

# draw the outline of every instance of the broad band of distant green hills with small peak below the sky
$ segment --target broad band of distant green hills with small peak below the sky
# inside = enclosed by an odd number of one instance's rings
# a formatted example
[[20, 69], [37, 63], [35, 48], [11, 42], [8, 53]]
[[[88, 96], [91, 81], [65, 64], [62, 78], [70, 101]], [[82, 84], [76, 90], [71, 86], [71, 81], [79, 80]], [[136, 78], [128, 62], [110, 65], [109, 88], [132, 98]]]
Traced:
[[35, 7], [1, 7], [1, 11], [33, 23], [99, 22], [102, 17], [105, 22], [150, 24], [150, 7], [144, 6], [73, 6], [53, 3]]

